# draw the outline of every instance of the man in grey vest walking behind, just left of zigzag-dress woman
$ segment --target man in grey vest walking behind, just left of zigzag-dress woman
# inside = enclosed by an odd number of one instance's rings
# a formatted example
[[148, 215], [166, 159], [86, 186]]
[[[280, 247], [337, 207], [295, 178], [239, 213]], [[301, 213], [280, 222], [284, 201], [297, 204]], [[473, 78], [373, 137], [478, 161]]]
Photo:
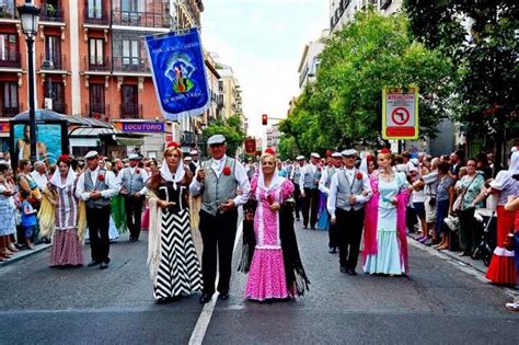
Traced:
[[140, 161], [138, 154], [132, 153], [128, 159], [129, 166], [119, 173], [120, 194], [125, 196], [126, 226], [130, 231], [129, 241], [136, 242], [140, 235], [142, 204], [147, 192], [146, 181], [149, 176], [146, 169], [138, 166]]

